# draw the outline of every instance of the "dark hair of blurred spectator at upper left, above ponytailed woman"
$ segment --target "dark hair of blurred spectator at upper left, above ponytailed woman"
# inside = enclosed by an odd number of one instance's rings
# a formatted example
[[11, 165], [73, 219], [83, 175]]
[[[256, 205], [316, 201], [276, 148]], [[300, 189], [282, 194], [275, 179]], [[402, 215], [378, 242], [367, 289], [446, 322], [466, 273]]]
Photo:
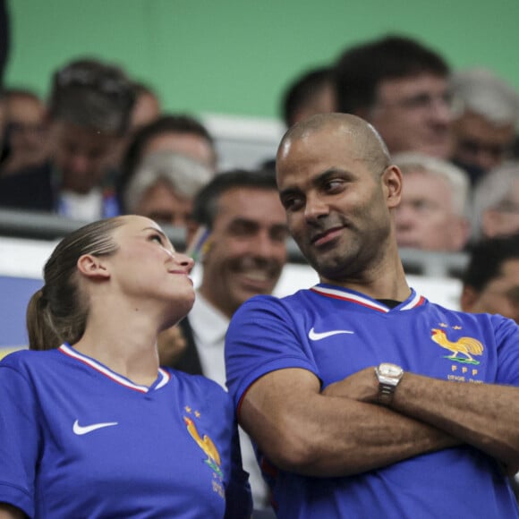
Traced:
[[55, 120], [123, 135], [134, 102], [132, 81], [120, 67], [80, 59], [55, 72], [48, 111]]

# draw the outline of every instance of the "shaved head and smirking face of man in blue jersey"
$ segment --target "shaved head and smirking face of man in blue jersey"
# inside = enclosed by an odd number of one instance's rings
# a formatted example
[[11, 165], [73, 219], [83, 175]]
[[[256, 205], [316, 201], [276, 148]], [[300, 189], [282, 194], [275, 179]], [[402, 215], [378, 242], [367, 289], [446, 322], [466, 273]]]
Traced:
[[277, 151], [277, 188], [288, 229], [324, 283], [370, 277], [388, 258], [397, 264], [392, 210], [402, 174], [360, 117], [294, 125]]

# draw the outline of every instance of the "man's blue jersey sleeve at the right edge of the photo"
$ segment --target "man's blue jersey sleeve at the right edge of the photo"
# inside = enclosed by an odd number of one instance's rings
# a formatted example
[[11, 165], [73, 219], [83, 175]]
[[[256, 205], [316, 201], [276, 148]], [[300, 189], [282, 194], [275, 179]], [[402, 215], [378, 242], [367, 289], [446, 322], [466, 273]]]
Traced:
[[491, 317], [498, 345], [498, 384], [519, 386], [519, 326], [500, 315]]

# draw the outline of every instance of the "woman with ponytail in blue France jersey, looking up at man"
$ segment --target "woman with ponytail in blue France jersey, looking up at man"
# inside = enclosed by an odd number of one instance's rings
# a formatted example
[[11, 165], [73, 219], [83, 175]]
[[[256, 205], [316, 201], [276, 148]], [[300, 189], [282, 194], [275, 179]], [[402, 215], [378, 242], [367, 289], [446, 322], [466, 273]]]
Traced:
[[146, 217], [57, 245], [28, 309], [44, 351], [0, 362], [0, 518], [251, 515], [229, 397], [159, 368], [192, 266]]

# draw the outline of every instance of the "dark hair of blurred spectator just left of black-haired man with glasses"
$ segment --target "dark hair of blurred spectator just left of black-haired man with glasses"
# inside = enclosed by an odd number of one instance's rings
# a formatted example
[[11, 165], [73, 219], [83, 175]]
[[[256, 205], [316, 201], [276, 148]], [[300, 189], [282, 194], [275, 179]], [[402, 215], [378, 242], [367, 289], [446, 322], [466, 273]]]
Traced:
[[311, 69], [298, 76], [287, 87], [282, 98], [281, 111], [286, 126], [292, 126], [297, 111], [319, 95], [328, 84], [333, 85], [333, 74], [330, 67]]

